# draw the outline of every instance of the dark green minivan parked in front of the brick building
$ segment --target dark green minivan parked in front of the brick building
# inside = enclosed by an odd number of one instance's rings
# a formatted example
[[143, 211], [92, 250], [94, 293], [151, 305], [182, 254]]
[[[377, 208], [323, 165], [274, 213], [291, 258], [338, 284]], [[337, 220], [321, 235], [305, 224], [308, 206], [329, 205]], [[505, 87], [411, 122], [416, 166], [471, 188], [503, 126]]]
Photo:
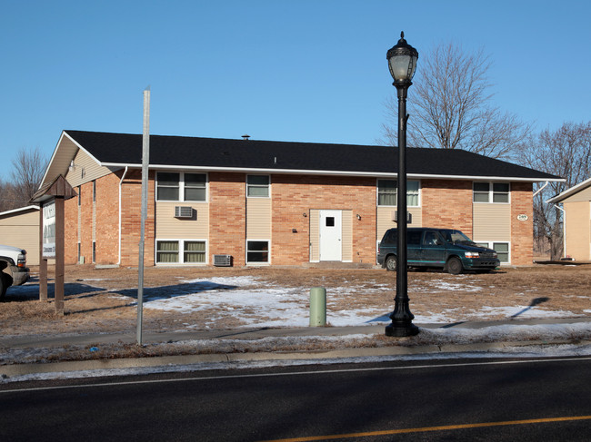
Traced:
[[[380, 241], [377, 263], [386, 270], [396, 270], [397, 229], [389, 229]], [[496, 251], [480, 247], [462, 231], [410, 227], [406, 232], [408, 267], [443, 269], [457, 275], [464, 270], [491, 271], [501, 262]]]

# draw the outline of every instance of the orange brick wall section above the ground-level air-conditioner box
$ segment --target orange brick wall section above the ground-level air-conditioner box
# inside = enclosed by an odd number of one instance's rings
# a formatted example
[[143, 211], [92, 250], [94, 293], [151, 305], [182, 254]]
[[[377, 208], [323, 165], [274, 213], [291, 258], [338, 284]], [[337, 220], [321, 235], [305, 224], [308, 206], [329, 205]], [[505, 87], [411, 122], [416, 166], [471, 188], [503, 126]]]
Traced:
[[209, 173], [209, 261], [228, 254], [235, 266], [245, 265], [245, 173]]

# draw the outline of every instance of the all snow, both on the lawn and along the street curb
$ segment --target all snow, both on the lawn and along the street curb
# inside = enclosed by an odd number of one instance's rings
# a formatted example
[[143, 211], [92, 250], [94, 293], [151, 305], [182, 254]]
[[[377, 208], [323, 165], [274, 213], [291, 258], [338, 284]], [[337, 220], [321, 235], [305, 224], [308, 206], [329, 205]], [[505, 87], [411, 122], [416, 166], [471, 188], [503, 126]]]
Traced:
[[[228, 277], [228, 278], [210, 278], [196, 280], [180, 280], [184, 289], [176, 290], [169, 288], [165, 296], [156, 294], [153, 291], [145, 299], [145, 309], [173, 310], [178, 312], [191, 312], [198, 310], [211, 310], [212, 316], [219, 315], [219, 309], [225, 309], [225, 315], [228, 313], [236, 315], [245, 322], [243, 327], [307, 327], [309, 321], [308, 298], [309, 292], [299, 288], [286, 288], [280, 286], [268, 286], [265, 290], [260, 290], [259, 282], [250, 276]], [[190, 290], [186, 288], [190, 287]], [[254, 288], [256, 287], [256, 288]], [[390, 319], [387, 312], [377, 311], [376, 309], [351, 309], [348, 311], [334, 311], [334, 303], [331, 298], [346, 296], [355, 290], [355, 287], [331, 288], [327, 297], [327, 322], [335, 327], [370, 325], [379, 323], [388, 323]], [[366, 291], [375, 290], [376, 292], [384, 290], [383, 287], [364, 288]], [[415, 290], [415, 288], [413, 288]], [[473, 291], [480, 288], [470, 285], [470, 281], [459, 280], [455, 283], [445, 281], [432, 281], [430, 285], [424, 285], [416, 290], [423, 293], [429, 291]], [[121, 290], [112, 290], [121, 291]], [[125, 291], [125, 290], [124, 290]], [[129, 298], [125, 295], [113, 294], [113, 296]], [[586, 310], [591, 313], [591, 310]], [[565, 318], [573, 317], [568, 311], [548, 311], [536, 309], [536, 306], [507, 306], [507, 307], [482, 307], [479, 311], [473, 312], [471, 316], [486, 320], [502, 314], [507, 319], [518, 317], [519, 319], [528, 318]], [[444, 313], [429, 313], [416, 315], [414, 322], [417, 325], [433, 323], [453, 323], [457, 321], [455, 309], [446, 309]], [[116, 376], [129, 374], [147, 374], [165, 371], [195, 371], [201, 369], [221, 369], [221, 368], [260, 368], [277, 365], [303, 365], [303, 364], [332, 364], [342, 362], [371, 362], [387, 360], [422, 360], [422, 359], [462, 359], [462, 358], [503, 358], [511, 357], [570, 357], [570, 356], [591, 356], [591, 345], [586, 343], [561, 344], [562, 342], [573, 342], [576, 340], [586, 340], [591, 337], [591, 322], [580, 322], [572, 324], [546, 324], [546, 325], [514, 325], [507, 323], [502, 326], [491, 326], [482, 329], [454, 329], [454, 328], [422, 328], [420, 345], [446, 345], [446, 344], [472, 344], [478, 342], [515, 342], [524, 340], [535, 340], [538, 343], [544, 341], [554, 341], [555, 344], [549, 345], [528, 345], [526, 347], [503, 347], [498, 349], [488, 349], [483, 351], [469, 353], [430, 353], [413, 356], [388, 356], [371, 357], [355, 359], [310, 359], [310, 360], [283, 360], [283, 361], [243, 361], [226, 362], [219, 364], [202, 363], [191, 365], [176, 365], [157, 368], [125, 368], [110, 370], [89, 370], [78, 371], [75, 373], [45, 373], [35, 375], [17, 376], [0, 379], [0, 384], [5, 382], [14, 382], [33, 379], [53, 379], [53, 378], [91, 378], [99, 376]], [[288, 343], [297, 346], [314, 340], [315, 342], [330, 341], [343, 348], [350, 347], [351, 342], [363, 339], [365, 335], [346, 335], [340, 337], [312, 336], [312, 337], [285, 337], [274, 338], [275, 341], [258, 339], [255, 344], [261, 346], [259, 351], [273, 351], [274, 343]], [[228, 345], [233, 345], [232, 340], [225, 340]], [[254, 341], [253, 341], [254, 342]], [[556, 343], [558, 342], [558, 343]], [[244, 344], [244, 340], [236, 340], [235, 345]], [[206, 346], [215, 345], [207, 343], [204, 340], [194, 340], [175, 343], [185, 346]], [[217, 342], [219, 345], [219, 341]], [[162, 345], [174, 345], [165, 344]], [[266, 348], [265, 346], [268, 346]], [[25, 363], [29, 354], [34, 349], [10, 349], [10, 355], [3, 356], [0, 363]], [[35, 357], [46, 358], [51, 354], [52, 349], [35, 349]], [[20, 353], [22, 352], [22, 354]], [[45, 353], [44, 353], [45, 352]], [[1, 371], [1, 370], [0, 370]]]

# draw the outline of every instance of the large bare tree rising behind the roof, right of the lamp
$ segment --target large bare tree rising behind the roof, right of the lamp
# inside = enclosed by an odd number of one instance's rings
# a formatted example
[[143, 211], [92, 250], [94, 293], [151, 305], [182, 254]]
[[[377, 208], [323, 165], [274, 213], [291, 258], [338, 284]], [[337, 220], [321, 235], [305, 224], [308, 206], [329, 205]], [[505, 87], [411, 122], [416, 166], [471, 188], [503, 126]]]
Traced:
[[[421, 57], [409, 97], [408, 137], [416, 147], [464, 149], [509, 159], [529, 126], [492, 104], [489, 57], [441, 44]], [[383, 125], [387, 144], [396, 145], [397, 102], [386, 103], [391, 121]]]

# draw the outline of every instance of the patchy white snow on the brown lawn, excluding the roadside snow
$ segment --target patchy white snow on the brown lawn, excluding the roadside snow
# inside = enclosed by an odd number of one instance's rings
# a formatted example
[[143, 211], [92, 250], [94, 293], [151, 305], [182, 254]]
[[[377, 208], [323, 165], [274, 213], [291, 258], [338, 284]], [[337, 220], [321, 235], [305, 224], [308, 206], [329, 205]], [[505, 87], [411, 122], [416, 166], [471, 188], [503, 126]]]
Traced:
[[[267, 287], [249, 289], [257, 285], [256, 278], [250, 276], [209, 278], [196, 280], [181, 280], [186, 287], [190, 285], [191, 293], [184, 291], [176, 293], [174, 289], [168, 290], [165, 296], [150, 298], [145, 302], [145, 309], [173, 310], [181, 313], [192, 311], [211, 310], [210, 318], [218, 316], [219, 309], [225, 309], [225, 314], [230, 312], [241, 321], [242, 327], [307, 327], [309, 324], [309, 292], [301, 288]], [[364, 288], [366, 293], [380, 292], [382, 287]], [[428, 281], [415, 291], [427, 293], [430, 291], [464, 291], [476, 292], [481, 290], [469, 283], [469, 280], [450, 283], [446, 281]], [[349, 309], [335, 311], [335, 300], [339, 296], [355, 291], [355, 287], [331, 288], [327, 294], [326, 321], [334, 327], [358, 326], [364, 324], [387, 323], [390, 321], [386, 311], [376, 309]], [[447, 309], [445, 313], [415, 314], [415, 322], [455, 322], [457, 316], [454, 309]], [[518, 315], [520, 319], [528, 318], [566, 318], [573, 317], [569, 311], [548, 311], [536, 309], [527, 305], [493, 308], [482, 307], [471, 313], [478, 319], [488, 319], [503, 315], [506, 318]]]

